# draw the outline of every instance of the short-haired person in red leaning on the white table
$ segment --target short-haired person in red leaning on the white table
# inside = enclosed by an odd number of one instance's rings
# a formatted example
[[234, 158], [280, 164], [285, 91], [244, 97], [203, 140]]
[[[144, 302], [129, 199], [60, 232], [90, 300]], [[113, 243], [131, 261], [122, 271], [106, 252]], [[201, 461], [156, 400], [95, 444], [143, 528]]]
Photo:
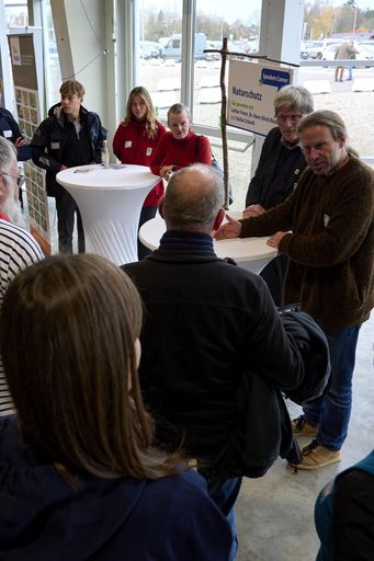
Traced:
[[150, 171], [168, 180], [173, 171], [192, 163], [212, 165], [211, 145], [205, 136], [197, 136], [190, 128], [191, 114], [183, 103], [175, 103], [168, 111], [168, 126], [150, 161]]

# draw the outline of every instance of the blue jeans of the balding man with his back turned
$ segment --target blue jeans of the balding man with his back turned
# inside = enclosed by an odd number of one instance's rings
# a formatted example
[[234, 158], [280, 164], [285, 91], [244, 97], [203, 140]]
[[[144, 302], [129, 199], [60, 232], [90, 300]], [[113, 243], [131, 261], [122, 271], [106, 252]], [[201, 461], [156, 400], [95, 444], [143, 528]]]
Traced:
[[238, 499], [242, 478], [211, 479], [205, 471], [200, 471], [200, 473], [206, 479], [207, 492], [212, 501], [226, 516], [227, 522], [230, 525], [233, 546], [228, 559], [229, 561], [234, 561], [238, 551], [238, 536], [235, 523], [235, 503]]

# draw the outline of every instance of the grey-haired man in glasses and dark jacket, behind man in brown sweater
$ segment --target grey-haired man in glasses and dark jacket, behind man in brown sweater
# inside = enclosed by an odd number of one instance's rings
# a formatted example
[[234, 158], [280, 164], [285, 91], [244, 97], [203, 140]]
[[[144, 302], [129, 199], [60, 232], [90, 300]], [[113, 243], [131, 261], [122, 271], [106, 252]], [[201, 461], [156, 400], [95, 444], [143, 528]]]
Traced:
[[[303, 85], [285, 85], [274, 98], [277, 127], [267, 136], [259, 164], [250, 181], [245, 217], [262, 215], [282, 203], [297, 185], [306, 161], [298, 144], [296, 127], [313, 111], [311, 93]], [[261, 272], [276, 306], [282, 305], [283, 284], [288, 260], [281, 254]]]

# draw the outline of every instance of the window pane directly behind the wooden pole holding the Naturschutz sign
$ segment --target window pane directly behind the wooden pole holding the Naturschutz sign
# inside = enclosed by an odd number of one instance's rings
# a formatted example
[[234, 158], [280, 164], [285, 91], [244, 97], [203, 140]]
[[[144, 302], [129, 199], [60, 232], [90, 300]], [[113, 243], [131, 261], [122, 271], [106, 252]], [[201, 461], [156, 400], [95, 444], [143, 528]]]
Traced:
[[[193, 122], [199, 125], [219, 127], [222, 92], [219, 85], [220, 55], [203, 53], [220, 49], [223, 37], [228, 38], [228, 49], [235, 53], [258, 50], [261, 21], [261, 0], [248, 2], [227, 0], [196, 0], [195, 68]], [[197, 56], [196, 56], [197, 55]], [[228, 64], [226, 78], [228, 77]], [[223, 164], [222, 142], [211, 138], [212, 151]], [[233, 210], [245, 207], [248, 188], [251, 150], [248, 145], [228, 140], [229, 181], [234, 191]]]

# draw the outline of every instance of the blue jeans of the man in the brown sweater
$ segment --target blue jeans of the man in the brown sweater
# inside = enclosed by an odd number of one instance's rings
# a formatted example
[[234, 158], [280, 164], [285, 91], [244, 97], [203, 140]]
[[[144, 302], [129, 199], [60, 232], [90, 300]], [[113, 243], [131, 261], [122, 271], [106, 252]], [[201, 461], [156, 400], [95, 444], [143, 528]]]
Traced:
[[330, 387], [325, 396], [304, 405], [303, 411], [309, 423], [319, 426], [317, 442], [330, 450], [340, 450], [347, 438], [360, 328], [328, 329], [321, 325], [330, 351]]

